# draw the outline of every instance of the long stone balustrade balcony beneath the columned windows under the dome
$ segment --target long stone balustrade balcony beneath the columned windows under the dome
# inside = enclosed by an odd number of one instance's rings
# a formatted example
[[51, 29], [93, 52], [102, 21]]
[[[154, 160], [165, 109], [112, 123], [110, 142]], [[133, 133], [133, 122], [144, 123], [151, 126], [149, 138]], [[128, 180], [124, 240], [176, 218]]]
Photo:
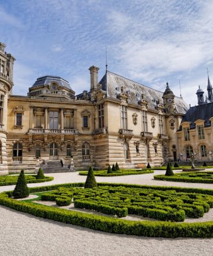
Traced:
[[56, 134], [56, 135], [78, 135], [78, 129], [42, 129], [34, 128], [29, 129], [30, 134], [44, 135], [44, 134]]

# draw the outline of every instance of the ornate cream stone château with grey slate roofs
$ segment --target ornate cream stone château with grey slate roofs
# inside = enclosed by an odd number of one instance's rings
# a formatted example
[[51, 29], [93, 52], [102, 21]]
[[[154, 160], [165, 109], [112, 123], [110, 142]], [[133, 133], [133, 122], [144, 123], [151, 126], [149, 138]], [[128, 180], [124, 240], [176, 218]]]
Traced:
[[91, 66], [91, 88], [82, 94], [47, 75], [26, 96], [13, 95], [14, 60], [0, 43], [0, 174], [40, 165], [67, 171], [71, 161], [75, 169], [106, 169], [116, 162], [121, 168], [156, 166], [186, 160], [202, 145], [202, 159], [213, 151], [213, 108], [206, 111], [212, 88], [208, 103], [189, 108], [168, 83], [161, 92], [109, 71], [99, 80], [99, 68]]

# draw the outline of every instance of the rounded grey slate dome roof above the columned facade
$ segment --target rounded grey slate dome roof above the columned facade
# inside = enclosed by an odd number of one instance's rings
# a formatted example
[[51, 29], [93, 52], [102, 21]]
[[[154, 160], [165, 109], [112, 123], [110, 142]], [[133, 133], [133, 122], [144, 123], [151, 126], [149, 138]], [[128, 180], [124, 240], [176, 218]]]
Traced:
[[65, 87], [65, 88], [73, 91], [73, 89], [69, 85], [69, 82], [67, 82], [60, 76], [51, 76], [51, 75], [42, 76], [40, 78], [37, 78], [37, 80], [33, 84], [33, 87], [37, 87], [40, 85], [50, 85], [52, 82], [56, 82], [57, 84], [59, 84], [59, 86]]

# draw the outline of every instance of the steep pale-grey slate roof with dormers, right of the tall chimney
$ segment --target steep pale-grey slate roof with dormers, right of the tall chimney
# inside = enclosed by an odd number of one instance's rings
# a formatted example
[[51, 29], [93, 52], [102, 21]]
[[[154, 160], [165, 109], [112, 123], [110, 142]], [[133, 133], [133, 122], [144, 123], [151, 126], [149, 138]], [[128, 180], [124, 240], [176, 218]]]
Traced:
[[[163, 105], [163, 92], [156, 89], [147, 87], [146, 85], [139, 84], [138, 82], [131, 81], [123, 76], [106, 71], [105, 75], [99, 82], [102, 84], [102, 89], [106, 91], [107, 97], [117, 98], [121, 92], [121, 87], [124, 92], [128, 94], [128, 102], [131, 104], [138, 104], [141, 100], [141, 94], [146, 97], [148, 107], [155, 109], [157, 104]], [[175, 97], [175, 106], [178, 113], [185, 114], [188, 110], [188, 104], [180, 97]]]

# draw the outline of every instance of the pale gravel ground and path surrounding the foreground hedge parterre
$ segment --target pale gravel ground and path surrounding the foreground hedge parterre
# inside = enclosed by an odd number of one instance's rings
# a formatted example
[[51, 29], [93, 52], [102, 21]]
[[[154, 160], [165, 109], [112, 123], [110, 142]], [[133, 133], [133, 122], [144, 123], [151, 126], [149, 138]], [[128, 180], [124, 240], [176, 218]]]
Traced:
[[[154, 175], [162, 173], [164, 171], [155, 171]], [[37, 187], [86, 180], [86, 177], [78, 175], [78, 172], [56, 173], [50, 176], [54, 177], [53, 181], [28, 184], [28, 186]], [[96, 177], [96, 180], [213, 189], [212, 184], [156, 181], [153, 180], [153, 174]], [[14, 185], [0, 187], [0, 191], [12, 190], [14, 187]], [[0, 214], [0, 256], [210, 256], [213, 251], [213, 239], [167, 239], [115, 235], [34, 217], [3, 206], [0, 206]]]

